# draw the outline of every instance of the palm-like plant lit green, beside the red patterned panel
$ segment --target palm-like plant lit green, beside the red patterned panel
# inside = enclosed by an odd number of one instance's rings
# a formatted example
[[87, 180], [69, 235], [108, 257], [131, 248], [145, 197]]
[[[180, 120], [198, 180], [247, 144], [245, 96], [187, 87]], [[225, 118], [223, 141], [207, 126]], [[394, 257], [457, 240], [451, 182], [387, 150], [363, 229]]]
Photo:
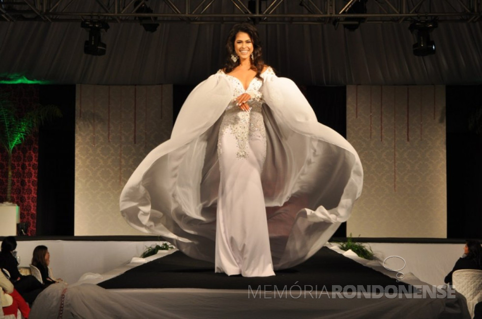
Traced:
[[20, 115], [8, 94], [0, 93], [0, 144], [7, 152], [7, 194], [6, 201], [11, 201], [12, 192], [12, 151], [25, 139], [38, 130], [44, 122], [62, 116], [59, 107], [53, 105], [32, 106], [32, 109]]

